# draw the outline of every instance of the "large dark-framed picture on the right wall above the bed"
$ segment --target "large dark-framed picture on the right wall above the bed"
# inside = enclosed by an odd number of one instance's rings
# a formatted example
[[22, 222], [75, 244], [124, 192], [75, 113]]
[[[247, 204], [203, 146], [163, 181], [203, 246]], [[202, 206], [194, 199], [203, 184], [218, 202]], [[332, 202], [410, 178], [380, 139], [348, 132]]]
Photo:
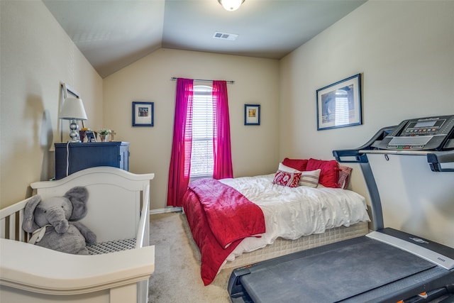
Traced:
[[317, 131], [362, 124], [361, 75], [317, 89]]

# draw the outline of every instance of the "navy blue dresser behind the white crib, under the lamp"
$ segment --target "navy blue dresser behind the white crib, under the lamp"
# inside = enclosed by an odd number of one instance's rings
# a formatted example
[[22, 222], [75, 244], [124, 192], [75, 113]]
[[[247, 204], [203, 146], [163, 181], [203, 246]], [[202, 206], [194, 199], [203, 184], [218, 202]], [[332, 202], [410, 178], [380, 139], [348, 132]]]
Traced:
[[55, 143], [55, 179], [95, 166], [129, 170], [128, 142]]

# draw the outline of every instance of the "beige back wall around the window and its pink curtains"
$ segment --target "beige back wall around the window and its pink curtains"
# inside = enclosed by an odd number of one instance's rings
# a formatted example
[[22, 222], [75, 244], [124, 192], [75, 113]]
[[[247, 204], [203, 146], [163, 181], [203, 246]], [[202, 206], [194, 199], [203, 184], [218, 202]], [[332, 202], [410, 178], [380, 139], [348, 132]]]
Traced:
[[[176, 86], [171, 77], [235, 81], [227, 87], [233, 174], [277, 169], [279, 61], [160, 49], [104, 79], [104, 126], [131, 143], [131, 172], [155, 173], [151, 209], [167, 202]], [[131, 126], [132, 101], [155, 102], [154, 127]], [[244, 104], [261, 105], [260, 126], [244, 126]]]

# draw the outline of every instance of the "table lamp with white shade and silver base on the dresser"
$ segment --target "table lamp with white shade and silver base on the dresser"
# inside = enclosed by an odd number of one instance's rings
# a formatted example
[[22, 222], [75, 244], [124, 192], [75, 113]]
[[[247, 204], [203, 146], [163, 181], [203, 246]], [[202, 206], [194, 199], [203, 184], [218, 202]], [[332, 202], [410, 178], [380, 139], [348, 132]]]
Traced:
[[70, 143], [80, 143], [79, 139], [79, 125], [77, 120], [87, 120], [87, 114], [85, 114], [84, 104], [82, 99], [68, 97], [63, 102], [62, 110], [58, 116], [60, 119], [70, 120]]

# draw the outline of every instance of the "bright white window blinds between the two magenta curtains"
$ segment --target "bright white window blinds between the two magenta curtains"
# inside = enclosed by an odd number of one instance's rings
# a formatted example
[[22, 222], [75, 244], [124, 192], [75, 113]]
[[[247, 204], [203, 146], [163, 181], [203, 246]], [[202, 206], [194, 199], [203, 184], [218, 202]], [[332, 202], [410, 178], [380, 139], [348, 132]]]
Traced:
[[193, 178], [213, 177], [213, 102], [211, 87], [194, 86], [192, 107], [192, 155]]

